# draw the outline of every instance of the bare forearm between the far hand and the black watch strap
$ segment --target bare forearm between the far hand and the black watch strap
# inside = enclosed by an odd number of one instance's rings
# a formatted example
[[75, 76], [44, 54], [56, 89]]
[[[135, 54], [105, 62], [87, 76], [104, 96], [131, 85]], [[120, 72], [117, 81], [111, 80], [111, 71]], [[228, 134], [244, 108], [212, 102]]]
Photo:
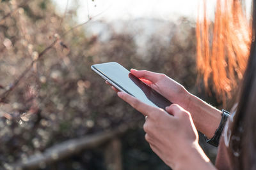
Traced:
[[187, 93], [187, 110], [191, 113], [196, 129], [212, 138], [220, 125], [221, 111], [205, 103], [202, 99]]

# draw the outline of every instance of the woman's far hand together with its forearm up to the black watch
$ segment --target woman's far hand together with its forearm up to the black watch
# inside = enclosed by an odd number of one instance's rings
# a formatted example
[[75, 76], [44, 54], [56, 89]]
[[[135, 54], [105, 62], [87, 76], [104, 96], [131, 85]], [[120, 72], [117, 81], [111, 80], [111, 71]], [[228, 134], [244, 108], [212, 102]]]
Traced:
[[[220, 125], [220, 110], [193, 96], [180, 83], [165, 74], [146, 70], [138, 71], [136, 69], [131, 69], [131, 73], [172, 103], [179, 104], [179, 106], [188, 110], [191, 113], [196, 129], [208, 138], [214, 136], [214, 132]], [[118, 92], [115, 87], [112, 87], [112, 89]]]

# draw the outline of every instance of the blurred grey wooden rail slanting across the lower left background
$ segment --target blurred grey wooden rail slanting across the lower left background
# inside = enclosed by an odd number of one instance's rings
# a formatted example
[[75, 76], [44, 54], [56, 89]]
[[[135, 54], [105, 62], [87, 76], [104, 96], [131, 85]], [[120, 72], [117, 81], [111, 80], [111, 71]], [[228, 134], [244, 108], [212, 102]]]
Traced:
[[12, 167], [13, 169], [17, 167], [20, 169], [36, 169], [42, 164], [52, 164], [53, 162], [79, 153], [81, 150], [100, 146], [108, 142], [110, 139], [113, 139], [120, 134], [124, 134], [124, 132], [131, 127], [132, 125], [127, 125], [125, 127], [124, 125], [120, 125], [120, 127], [112, 131], [99, 132], [97, 134], [84, 136], [83, 138], [64, 141], [63, 143], [59, 143], [47, 148], [47, 150], [40, 155], [31, 155], [31, 157], [29, 157], [26, 161], [16, 162], [12, 165]]

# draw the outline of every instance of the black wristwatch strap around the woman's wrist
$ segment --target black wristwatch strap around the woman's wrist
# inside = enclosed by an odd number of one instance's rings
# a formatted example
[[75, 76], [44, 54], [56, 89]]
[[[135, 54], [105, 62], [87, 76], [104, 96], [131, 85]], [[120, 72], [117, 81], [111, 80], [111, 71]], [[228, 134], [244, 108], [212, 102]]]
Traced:
[[219, 145], [221, 132], [225, 126], [225, 123], [226, 123], [229, 115], [230, 115], [230, 113], [228, 111], [222, 110], [222, 114], [221, 114], [222, 117], [221, 117], [220, 125], [219, 125], [218, 129], [216, 130], [216, 132], [214, 133], [214, 136], [211, 139], [208, 139], [206, 136], [204, 136], [207, 143], [209, 143], [213, 146], [216, 146], [216, 147]]

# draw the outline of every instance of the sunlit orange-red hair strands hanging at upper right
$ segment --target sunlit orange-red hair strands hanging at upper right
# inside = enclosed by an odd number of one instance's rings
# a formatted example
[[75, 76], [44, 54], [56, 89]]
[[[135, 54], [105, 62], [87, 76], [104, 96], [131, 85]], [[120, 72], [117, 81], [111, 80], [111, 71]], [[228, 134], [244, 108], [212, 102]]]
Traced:
[[225, 103], [231, 97], [231, 90], [237, 87], [237, 80], [243, 78], [251, 45], [251, 26], [248, 24], [239, 0], [216, 0], [213, 29], [206, 15], [199, 15], [196, 22], [196, 64], [199, 75], [207, 88], [212, 80], [218, 99]]

